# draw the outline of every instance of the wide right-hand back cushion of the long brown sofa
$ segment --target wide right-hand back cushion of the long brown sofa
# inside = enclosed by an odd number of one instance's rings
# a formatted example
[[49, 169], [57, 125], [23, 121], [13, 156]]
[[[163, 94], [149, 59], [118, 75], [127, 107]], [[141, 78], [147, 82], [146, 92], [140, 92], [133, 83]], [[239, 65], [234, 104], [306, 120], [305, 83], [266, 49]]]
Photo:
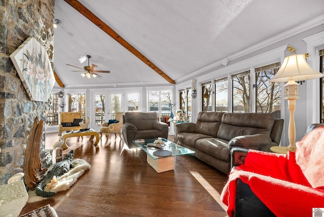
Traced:
[[274, 115], [267, 113], [225, 113], [216, 137], [229, 141], [241, 135], [270, 136], [274, 120]]

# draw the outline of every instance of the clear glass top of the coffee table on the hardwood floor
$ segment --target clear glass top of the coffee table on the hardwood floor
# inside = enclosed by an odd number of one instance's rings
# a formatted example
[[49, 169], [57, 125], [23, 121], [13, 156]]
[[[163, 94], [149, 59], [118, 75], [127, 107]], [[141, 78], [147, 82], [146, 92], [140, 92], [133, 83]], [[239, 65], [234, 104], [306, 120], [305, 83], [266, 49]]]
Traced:
[[[150, 146], [150, 144], [153, 144], [154, 141], [157, 138], [150, 138], [150, 139], [136, 139], [134, 140], [134, 143], [137, 144], [138, 147], [140, 147], [146, 154], [148, 154], [151, 158], [153, 159], [159, 159], [159, 158], [166, 158], [166, 157], [171, 157], [171, 156], [177, 156], [177, 155], [187, 155], [187, 154], [193, 154], [194, 151], [184, 148], [182, 146], [179, 146], [179, 144], [176, 144], [172, 141], [169, 141], [165, 138], [162, 138], [164, 141], [164, 144], [161, 149], [157, 149], [154, 147], [147, 147]], [[165, 151], [170, 151], [172, 154], [168, 156], [156, 156], [153, 153], [158, 150], [165, 150]]]

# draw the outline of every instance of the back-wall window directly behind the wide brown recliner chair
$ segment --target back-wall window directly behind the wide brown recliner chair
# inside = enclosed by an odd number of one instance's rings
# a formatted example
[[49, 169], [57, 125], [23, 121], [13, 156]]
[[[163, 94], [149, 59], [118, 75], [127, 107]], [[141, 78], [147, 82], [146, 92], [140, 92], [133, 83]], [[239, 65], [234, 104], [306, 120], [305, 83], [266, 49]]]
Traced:
[[173, 104], [171, 90], [148, 91], [148, 111], [156, 112], [161, 120], [170, 116], [170, 104]]

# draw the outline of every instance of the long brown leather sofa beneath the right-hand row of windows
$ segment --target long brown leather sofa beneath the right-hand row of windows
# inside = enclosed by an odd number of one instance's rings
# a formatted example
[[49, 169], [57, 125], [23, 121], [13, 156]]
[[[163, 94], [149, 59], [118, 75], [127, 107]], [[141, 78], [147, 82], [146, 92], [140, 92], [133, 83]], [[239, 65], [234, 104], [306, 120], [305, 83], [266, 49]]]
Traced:
[[283, 119], [266, 113], [200, 112], [196, 123], [175, 125], [177, 143], [195, 157], [229, 173], [233, 147], [269, 152], [281, 139]]

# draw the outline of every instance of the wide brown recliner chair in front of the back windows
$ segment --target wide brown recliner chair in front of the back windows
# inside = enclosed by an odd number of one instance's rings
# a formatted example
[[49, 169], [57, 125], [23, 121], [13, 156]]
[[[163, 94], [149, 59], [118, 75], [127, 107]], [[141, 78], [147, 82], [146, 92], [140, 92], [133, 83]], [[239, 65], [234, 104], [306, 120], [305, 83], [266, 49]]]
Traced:
[[169, 126], [157, 121], [157, 113], [126, 112], [121, 129], [125, 143], [132, 148], [138, 148], [133, 142], [135, 139], [163, 137], [168, 139]]

